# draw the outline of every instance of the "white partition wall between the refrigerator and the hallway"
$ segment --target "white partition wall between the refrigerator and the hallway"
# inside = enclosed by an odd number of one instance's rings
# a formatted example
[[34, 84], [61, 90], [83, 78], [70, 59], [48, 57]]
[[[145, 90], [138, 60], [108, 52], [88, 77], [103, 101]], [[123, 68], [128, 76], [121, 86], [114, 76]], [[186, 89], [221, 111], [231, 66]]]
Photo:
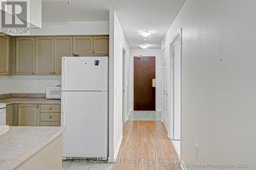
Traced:
[[[129, 56], [129, 44], [119, 20], [116, 13], [110, 11], [110, 159], [116, 158], [122, 139], [123, 48], [126, 51], [126, 56]], [[129, 57], [126, 58], [127, 68]], [[125, 79], [129, 80], [129, 75]], [[129, 89], [129, 87], [127, 88]], [[129, 96], [127, 98], [129, 99]]]

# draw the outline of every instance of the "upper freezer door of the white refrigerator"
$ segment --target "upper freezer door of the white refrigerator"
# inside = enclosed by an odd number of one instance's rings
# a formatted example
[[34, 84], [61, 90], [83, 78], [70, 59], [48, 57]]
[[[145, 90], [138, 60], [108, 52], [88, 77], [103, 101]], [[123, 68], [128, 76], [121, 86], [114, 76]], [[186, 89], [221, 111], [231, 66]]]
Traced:
[[107, 91], [108, 57], [62, 57], [62, 91]]

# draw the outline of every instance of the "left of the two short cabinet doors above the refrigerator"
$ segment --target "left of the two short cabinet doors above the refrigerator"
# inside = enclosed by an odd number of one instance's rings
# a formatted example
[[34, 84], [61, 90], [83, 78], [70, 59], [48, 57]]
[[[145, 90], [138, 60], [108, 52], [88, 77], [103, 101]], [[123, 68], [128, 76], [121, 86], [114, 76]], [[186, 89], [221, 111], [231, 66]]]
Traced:
[[93, 37], [73, 37], [73, 54], [92, 54]]

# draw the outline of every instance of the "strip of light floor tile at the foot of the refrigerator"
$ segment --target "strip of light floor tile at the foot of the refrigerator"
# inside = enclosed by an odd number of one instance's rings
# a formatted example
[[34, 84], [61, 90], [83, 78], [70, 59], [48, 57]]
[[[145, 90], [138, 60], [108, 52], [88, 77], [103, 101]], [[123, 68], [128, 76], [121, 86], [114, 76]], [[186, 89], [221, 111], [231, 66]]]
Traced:
[[114, 163], [77, 162], [76, 160], [63, 160], [62, 170], [112, 170]]

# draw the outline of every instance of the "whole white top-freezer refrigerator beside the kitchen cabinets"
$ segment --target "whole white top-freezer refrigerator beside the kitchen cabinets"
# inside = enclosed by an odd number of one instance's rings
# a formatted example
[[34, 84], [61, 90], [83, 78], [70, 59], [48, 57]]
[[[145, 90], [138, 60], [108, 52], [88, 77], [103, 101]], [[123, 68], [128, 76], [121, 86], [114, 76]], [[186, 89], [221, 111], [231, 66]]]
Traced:
[[108, 157], [108, 57], [62, 57], [62, 156]]

